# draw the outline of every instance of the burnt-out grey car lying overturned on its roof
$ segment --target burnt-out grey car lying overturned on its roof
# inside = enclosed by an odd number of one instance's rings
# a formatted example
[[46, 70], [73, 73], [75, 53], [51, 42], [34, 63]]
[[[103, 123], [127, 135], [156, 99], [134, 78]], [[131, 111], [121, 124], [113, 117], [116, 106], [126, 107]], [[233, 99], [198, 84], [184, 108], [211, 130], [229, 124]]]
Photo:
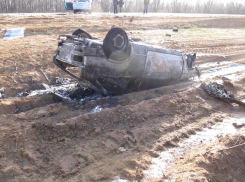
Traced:
[[[122, 94], [186, 80], [195, 72], [196, 54], [185, 54], [128, 38], [113, 27], [104, 40], [83, 30], [60, 35], [54, 63], [82, 84], [104, 94]], [[78, 67], [76, 76], [68, 67]]]

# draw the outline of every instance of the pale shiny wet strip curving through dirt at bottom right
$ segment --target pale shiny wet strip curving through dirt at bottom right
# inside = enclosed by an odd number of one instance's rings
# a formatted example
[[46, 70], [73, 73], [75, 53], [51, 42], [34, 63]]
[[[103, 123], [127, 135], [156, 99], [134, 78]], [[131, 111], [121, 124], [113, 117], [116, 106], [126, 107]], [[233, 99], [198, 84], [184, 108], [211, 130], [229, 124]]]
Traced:
[[[242, 123], [244, 120], [245, 118], [224, 119], [222, 123], [217, 123], [211, 129], [205, 128], [203, 131], [197, 132], [196, 135], [192, 135], [190, 138], [180, 142], [179, 147], [161, 152], [158, 158], [152, 159], [149, 170], [143, 171], [145, 178], [142, 181], [148, 181], [154, 178], [163, 179], [164, 173], [174, 164], [175, 158], [182, 157], [192, 148], [202, 143], [215, 142], [221, 136], [236, 133], [237, 129], [233, 127], [232, 123]], [[165, 182], [169, 181], [168, 179], [163, 180]]]

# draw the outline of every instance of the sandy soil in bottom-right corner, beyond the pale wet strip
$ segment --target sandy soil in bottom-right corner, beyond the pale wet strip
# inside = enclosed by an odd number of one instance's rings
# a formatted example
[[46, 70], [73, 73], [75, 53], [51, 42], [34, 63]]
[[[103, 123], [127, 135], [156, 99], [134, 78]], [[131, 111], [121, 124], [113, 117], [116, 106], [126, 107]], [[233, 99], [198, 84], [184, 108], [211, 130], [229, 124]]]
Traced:
[[244, 141], [243, 130], [201, 145], [176, 160], [167, 176], [176, 181], [244, 181]]

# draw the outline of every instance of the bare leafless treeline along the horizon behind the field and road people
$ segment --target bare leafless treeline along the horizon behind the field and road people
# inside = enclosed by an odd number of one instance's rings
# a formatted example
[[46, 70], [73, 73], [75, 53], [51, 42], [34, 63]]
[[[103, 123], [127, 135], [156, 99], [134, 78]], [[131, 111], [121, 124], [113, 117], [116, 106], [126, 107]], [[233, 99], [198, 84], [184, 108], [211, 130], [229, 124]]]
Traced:
[[[70, 0], [71, 1], [71, 0]], [[71, 1], [72, 2], [72, 1]], [[95, 0], [93, 12], [112, 12], [113, 0]], [[123, 12], [142, 12], [144, 0], [124, 0]], [[1, 13], [41, 13], [66, 12], [64, 0], [1, 0]], [[211, 13], [211, 14], [245, 14], [245, 4], [237, 2], [217, 3], [215, 0], [188, 1], [150, 0], [148, 12], [162, 13]]]

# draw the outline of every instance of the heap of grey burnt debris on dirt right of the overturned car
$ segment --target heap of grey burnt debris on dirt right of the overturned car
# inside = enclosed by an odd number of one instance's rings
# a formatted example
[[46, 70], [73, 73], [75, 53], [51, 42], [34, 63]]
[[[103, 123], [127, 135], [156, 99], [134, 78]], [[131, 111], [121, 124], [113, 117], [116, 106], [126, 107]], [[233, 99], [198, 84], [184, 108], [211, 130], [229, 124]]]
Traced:
[[210, 96], [215, 97], [218, 100], [224, 101], [228, 104], [235, 103], [241, 107], [245, 107], [245, 103], [236, 99], [234, 95], [227, 91], [223, 85], [218, 84], [217, 82], [209, 84], [203, 82], [200, 87]]

